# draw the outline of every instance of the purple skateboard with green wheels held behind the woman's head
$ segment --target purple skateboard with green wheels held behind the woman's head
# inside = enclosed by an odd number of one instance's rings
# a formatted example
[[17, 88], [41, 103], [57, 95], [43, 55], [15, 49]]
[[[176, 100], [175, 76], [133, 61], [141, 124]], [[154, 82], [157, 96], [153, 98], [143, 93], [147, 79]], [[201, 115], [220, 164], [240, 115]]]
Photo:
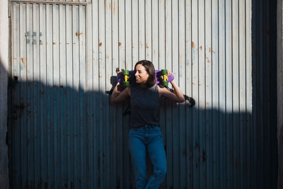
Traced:
[[[156, 84], [162, 84], [163, 86], [168, 86], [168, 83], [174, 80], [174, 75], [171, 73], [170, 76], [167, 74], [167, 69], [155, 70], [156, 74]], [[122, 74], [117, 74], [117, 81], [123, 83], [123, 86], [129, 86], [130, 84], [135, 84], [136, 79], [134, 78], [134, 71], [129, 71], [128, 69], [122, 69]]]

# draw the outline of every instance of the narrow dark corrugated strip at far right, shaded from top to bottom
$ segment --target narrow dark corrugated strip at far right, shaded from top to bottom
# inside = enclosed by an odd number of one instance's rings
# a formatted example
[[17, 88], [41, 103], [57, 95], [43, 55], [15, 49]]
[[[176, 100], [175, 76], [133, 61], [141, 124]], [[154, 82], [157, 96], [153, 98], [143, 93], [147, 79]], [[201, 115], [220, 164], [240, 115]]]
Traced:
[[257, 105], [253, 125], [258, 144], [255, 179], [258, 187], [277, 188], [276, 2], [253, 3], [253, 103]]

